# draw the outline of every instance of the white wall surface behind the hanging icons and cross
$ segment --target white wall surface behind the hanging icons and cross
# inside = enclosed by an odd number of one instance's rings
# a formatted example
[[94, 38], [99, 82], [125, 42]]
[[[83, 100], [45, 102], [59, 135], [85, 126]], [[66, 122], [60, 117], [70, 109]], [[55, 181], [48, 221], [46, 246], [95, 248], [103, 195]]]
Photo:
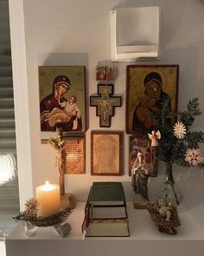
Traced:
[[[15, 2], [15, 1], [14, 1]], [[115, 7], [158, 5], [162, 9], [161, 60], [134, 62], [137, 64], [179, 64], [179, 108], [184, 109], [188, 99], [199, 96], [204, 109], [204, 5], [199, 0], [25, 0], [24, 20], [27, 52], [29, 132], [33, 191], [45, 180], [57, 182], [54, 150], [41, 145], [39, 122], [38, 66], [86, 65], [87, 115], [86, 174], [67, 175], [67, 191], [77, 200], [86, 200], [92, 181], [124, 181], [127, 199], [131, 200], [131, 178], [128, 176], [129, 135], [124, 139], [124, 175], [121, 177], [91, 176], [90, 131], [99, 129], [95, 108], [88, 106], [89, 95], [96, 93], [95, 69], [98, 62], [111, 60], [110, 11]], [[125, 129], [125, 67], [130, 62], [119, 62], [115, 93], [123, 95], [123, 106], [116, 108], [112, 130]], [[21, 99], [22, 100], [22, 99]], [[20, 100], [20, 101], [21, 101]], [[16, 100], [17, 101], [17, 100]], [[203, 128], [204, 115], [194, 128]], [[125, 134], [125, 133], [124, 133]], [[203, 150], [204, 151], [204, 150]], [[184, 199], [192, 208], [201, 203], [201, 170], [175, 167], [176, 179], [182, 187]], [[159, 166], [163, 174], [163, 166]], [[151, 179], [150, 194], [163, 181], [163, 176]], [[197, 186], [194, 187], [195, 182]], [[194, 193], [191, 193], [192, 190]]]

